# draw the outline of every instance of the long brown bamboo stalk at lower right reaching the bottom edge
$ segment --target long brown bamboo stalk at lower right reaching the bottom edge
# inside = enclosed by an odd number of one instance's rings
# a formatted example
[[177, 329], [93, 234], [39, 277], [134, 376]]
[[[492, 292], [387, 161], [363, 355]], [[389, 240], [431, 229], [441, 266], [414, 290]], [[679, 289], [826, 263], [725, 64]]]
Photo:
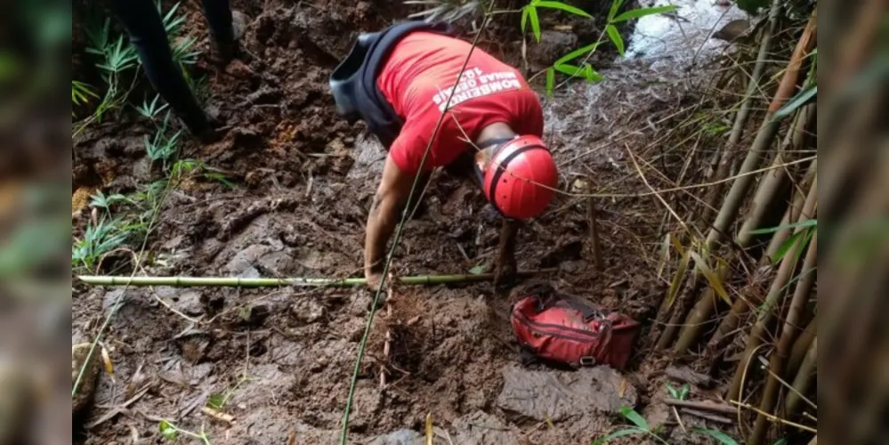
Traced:
[[[784, 320], [784, 328], [781, 329], [781, 336], [778, 341], [778, 347], [772, 354], [772, 360], [769, 368], [772, 375], [766, 380], [763, 398], [759, 404], [761, 412], [770, 413], [778, 402], [778, 390], [780, 381], [778, 376], [784, 374], [784, 367], [787, 363], [790, 346], [796, 339], [796, 326], [799, 324], [803, 316], [805, 304], [808, 303], [809, 295], [812, 294], [812, 286], [815, 283], [815, 274], [813, 271], [818, 267], [818, 236], [812, 237], [812, 243], [809, 245], [809, 251], [805, 254], [803, 269], [800, 271], [804, 274], [801, 279], [796, 282], [796, 290], [790, 302], [788, 315]], [[765, 438], [768, 431], [768, 419], [760, 414], [756, 417], [756, 424], [753, 427], [753, 434], [750, 436], [749, 445], [759, 445]]]

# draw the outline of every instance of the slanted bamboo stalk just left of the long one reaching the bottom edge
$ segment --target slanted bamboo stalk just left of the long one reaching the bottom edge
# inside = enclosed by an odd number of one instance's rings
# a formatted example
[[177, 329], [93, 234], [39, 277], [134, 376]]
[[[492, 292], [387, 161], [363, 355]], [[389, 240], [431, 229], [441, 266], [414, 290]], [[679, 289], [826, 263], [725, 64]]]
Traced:
[[[809, 190], [809, 195], [805, 198], [803, 214], [800, 214], [799, 217], [800, 221], [804, 221], [805, 219], [814, 216], [815, 204], [818, 200], [817, 190], [818, 178], [816, 177], [814, 182], [812, 183], [812, 188]], [[803, 228], [796, 228], [795, 233], [803, 230]], [[788, 281], [790, 280], [790, 276], [793, 274], [793, 271], [796, 268], [796, 251], [800, 247], [799, 245], [800, 243], [795, 243], [794, 246], [788, 249], [788, 252], [786, 255], [784, 255], [784, 258], [781, 259], [778, 273], [775, 275], [775, 279], [772, 280], [772, 287], [769, 289], [769, 293], [765, 297], [764, 307], [759, 312], [759, 316], [756, 320], [756, 325], [754, 326], [753, 331], [748, 336], [747, 346], [744, 349], [743, 355], [741, 356], [738, 368], [735, 369], [735, 375], [731, 380], [731, 387], [729, 388], [728, 392], [728, 400], [738, 399], [738, 395], [740, 393], [741, 379], [747, 372], [746, 365], [748, 364], [748, 361], [750, 361], [750, 355], [764, 341], [766, 331], [768, 330], [769, 325], [774, 319], [774, 308], [778, 307], [781, 296], [784, 295], [784, 287], [787, 286]]]

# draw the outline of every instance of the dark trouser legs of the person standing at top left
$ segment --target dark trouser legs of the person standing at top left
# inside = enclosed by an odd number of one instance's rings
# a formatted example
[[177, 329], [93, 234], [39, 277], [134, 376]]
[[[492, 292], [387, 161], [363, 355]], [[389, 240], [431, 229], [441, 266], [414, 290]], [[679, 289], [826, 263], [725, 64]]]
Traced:
[[[191, 92], [182, 69], [173, 61], [170, 42], [166, 39], [164, 23], [153, 0], [107, 0], [111, 12], [124, 25], [130, 41], [139, 53], [139, 59], [151, 85], [164, 98], [192, 134], [206, 130], [204, 110]], [[204, 14], [210, 35], [217, 44], [234, 41], [231, 28], [229, 0], [203, 0]]]

